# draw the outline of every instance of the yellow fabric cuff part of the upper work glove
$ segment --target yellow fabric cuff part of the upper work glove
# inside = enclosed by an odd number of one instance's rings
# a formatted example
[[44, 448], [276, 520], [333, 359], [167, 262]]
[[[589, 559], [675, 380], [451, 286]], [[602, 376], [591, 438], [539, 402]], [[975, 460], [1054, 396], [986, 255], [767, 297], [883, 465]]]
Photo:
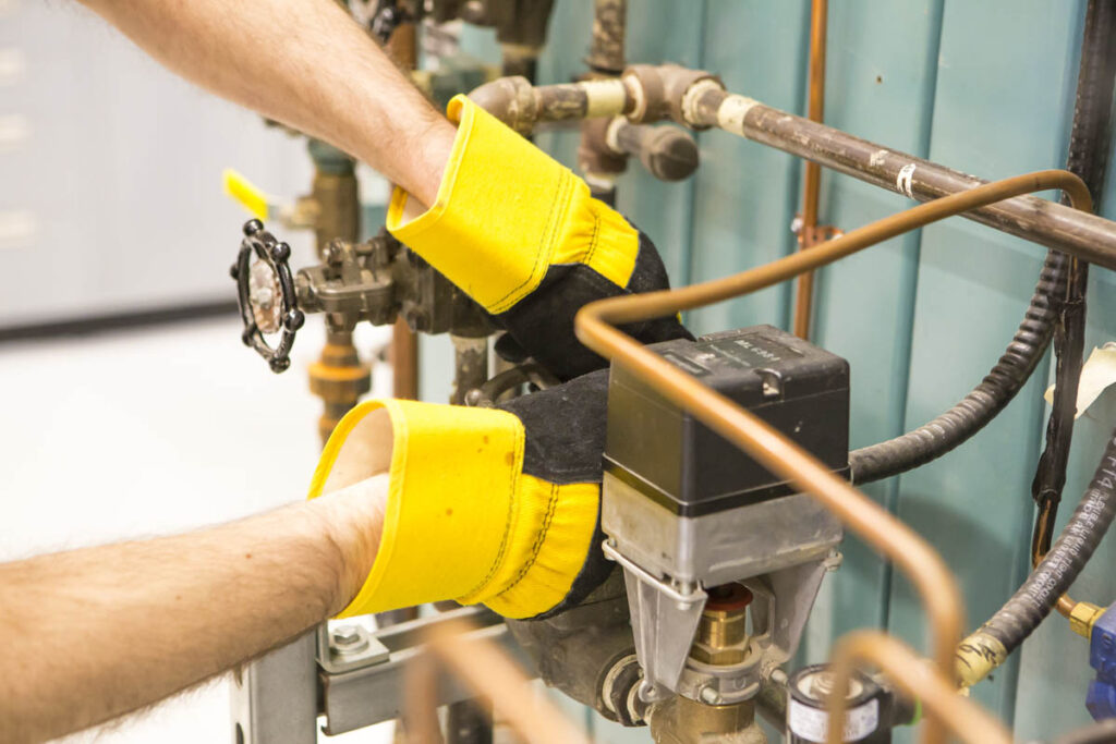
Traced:
[[584, 263], [627, 286], [638, 233], [568, 168], [464, 96], [446, 114], [458, 136], [434, 205], [417, 215], [396, 187], [387, 229], [485, 310], [530, 294], [552, 264]]

